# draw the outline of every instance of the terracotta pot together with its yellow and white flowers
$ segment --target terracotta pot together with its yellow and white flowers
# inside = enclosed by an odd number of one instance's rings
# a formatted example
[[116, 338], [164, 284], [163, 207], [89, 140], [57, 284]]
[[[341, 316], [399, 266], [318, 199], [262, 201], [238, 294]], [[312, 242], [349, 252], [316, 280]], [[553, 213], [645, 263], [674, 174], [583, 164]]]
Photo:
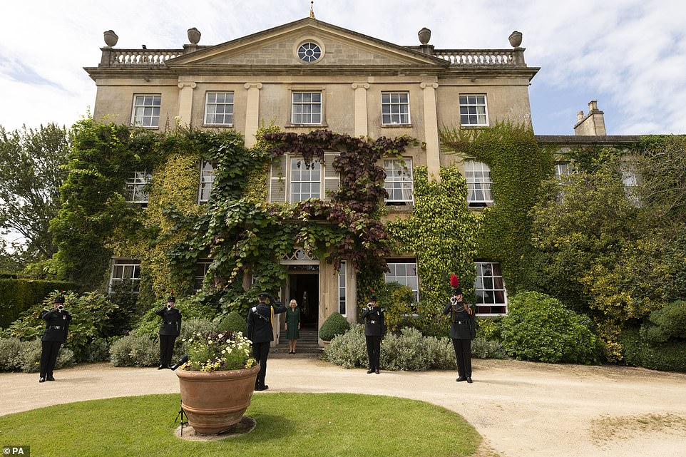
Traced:
[[250, 406], [260, 365], [240, 332], [197, 333], [187, 344], [188, 361], [175, 371], [181, 407], [195, 433], [222, 433]]

